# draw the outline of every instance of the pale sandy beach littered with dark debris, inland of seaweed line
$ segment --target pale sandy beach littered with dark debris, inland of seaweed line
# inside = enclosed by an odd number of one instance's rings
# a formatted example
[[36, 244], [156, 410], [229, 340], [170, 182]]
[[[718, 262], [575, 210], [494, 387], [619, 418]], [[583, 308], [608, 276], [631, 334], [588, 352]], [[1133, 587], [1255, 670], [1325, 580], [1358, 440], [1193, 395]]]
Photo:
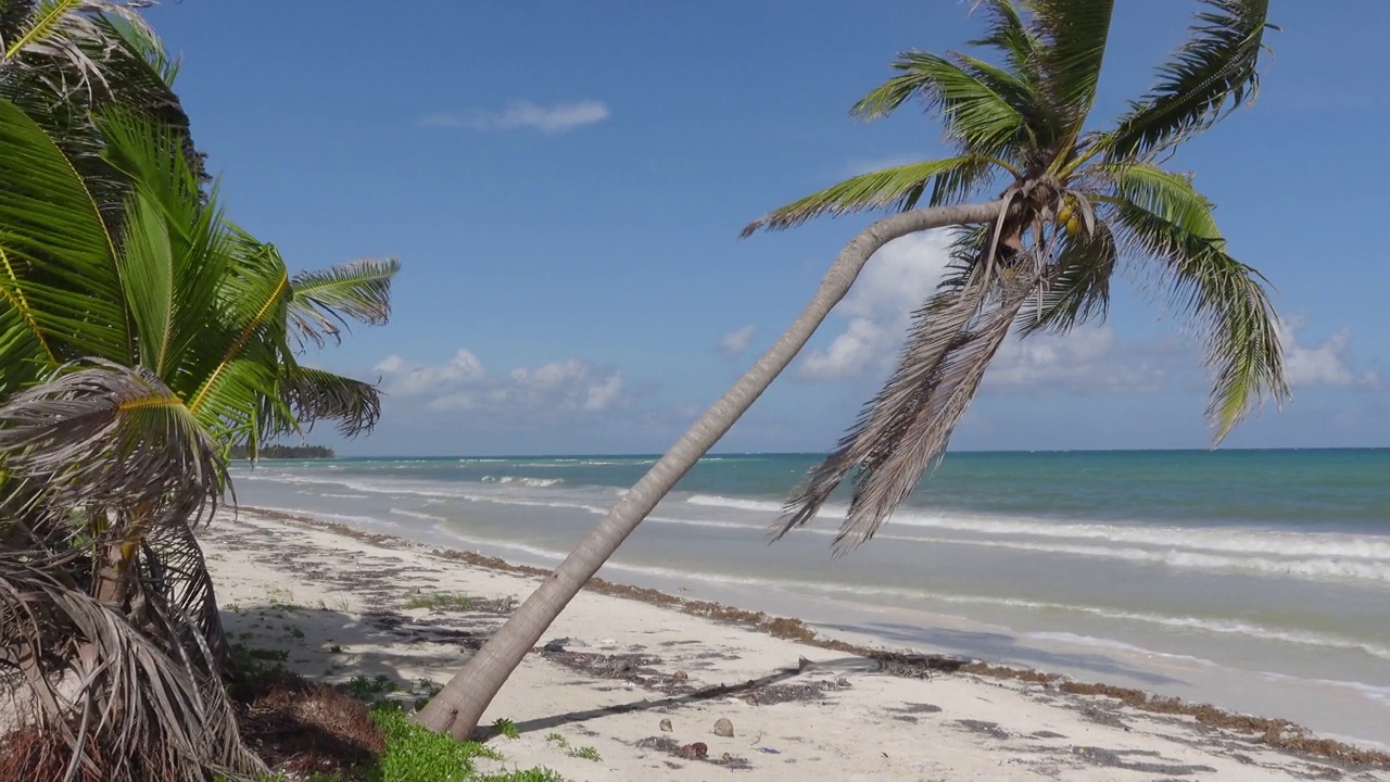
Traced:
[[[379, 676], [411, 700], [446, 682], [535, 586], [245, 509], [200, 537], [236, 643], [282, 650], [313, 679]], [[436, 594], [471, 604], [406, 608]], [[1390, 781], [1390, 769], [1276, 751], [1191, 717], [1038, 683], [890, 675], [863, 657], [589, 591], [546, 641], [557, 643], [527, 657], [484, 722], [521, 732], [489, 740], [507, 758], [499, 765], [573, 781]], [[731, 736], [716, 735], [719, 719]], [[691, 757], [695, 743], [703, 758]]]

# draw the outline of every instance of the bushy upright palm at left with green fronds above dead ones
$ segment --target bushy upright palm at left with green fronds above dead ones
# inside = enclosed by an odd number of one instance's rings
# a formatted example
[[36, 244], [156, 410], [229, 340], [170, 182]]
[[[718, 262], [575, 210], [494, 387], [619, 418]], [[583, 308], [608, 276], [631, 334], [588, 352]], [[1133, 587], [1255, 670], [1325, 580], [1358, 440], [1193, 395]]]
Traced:
[[0, 673], [65, 774], [254, 775], [193, 529], [231, 445], [375, 423], [374, 387], [297, 353], [384, 321], [396, 262], [291, 276], [178, 129], [118, 109], [92, 128], [100, 184], [0, 99]]

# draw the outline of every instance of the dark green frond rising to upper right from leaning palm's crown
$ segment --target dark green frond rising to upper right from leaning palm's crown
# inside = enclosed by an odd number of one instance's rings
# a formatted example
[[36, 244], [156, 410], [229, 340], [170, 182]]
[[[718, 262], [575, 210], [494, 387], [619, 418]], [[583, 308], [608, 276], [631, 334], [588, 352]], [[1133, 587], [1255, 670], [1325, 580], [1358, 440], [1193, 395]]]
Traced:
[[1266, 21], [1269, 0], [1202, 1], [1211, 10], [1197, 15], [1191, 38], [1159, 68], [1158, 83], [1098, 145], [1109, 160], [1169, 149], [1258, 93], [1265, 31], [1277, 29]]

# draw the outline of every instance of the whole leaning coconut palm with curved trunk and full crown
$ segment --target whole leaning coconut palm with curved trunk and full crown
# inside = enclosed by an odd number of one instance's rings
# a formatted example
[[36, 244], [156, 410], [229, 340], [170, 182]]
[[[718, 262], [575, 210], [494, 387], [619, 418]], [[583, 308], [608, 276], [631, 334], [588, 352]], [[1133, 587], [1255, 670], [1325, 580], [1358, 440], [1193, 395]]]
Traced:
[[[1119, 263], [1150, 270], [1205, 334], [1218, 441], [1262, 397], [1282, 399], [1280, 351], [1259, 276], [1234, 260], [1191, 177], [1159, 163], [1254, 96], [1265, 0], [1205, 0], [1188, 42], [1108, 129], [1087, 125], [1112, 0], [981, 0], [977, 46], [990, 58], [908, 51], [898, 75], [855, 114], [881, 117], [912, 97], [940, 114], [958, 153], [855, 177], [745, 228], [821, 214], [899, 212], [855, 237], [792, 327], [706, 410], [420, 715], [467, 736], [564, 605], [657, 501], [752, 405], [885, 242], [962, 228], [954, 273], [916, 313], [898, 370], [851, 433], [788, 502], [774, 536], [805, 525], [853, 474], [837, 552], [873, 534], [941, 458], [990, 359], [1011, 333], [1066, 331], [1104, 316]], [[1001, 189], [1002, 188], [1002, 192]], [[987, 203], [963, 206], [981, 192]], [[924, 198], [924, 200], [923, 200]], [[922, 206], [922, 209], [919, 209]]]

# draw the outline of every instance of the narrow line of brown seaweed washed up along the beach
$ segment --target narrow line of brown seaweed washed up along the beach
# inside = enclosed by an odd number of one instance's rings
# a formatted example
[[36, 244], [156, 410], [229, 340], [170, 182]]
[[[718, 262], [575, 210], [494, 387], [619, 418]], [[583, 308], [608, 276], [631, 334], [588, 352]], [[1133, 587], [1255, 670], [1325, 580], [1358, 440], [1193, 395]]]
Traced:
[[[461, 562], [467, 566], [492, 573], [506, 573], [510, 576], [537, 579], [543, 577], [549, 572], [545, 568], [518, 565], [498, 557], [432, 547], [399, 536], [370, 533], [348, 525], [320, 520], [284, 511], [243, 506], [239, 512], [271, 523], [307, 527], [310, 530], [325, 532], [338, 537], [352, 538], [386, 550], [413, 554], [427, 552], [430, 557], [438, 559]], [[221, 584], [218, 586], [221, 587]], [[1055, 694], [1058, 697], [1097, 700], [1108, 704], [1118, 704], [1129, 711], [1147, 714], [1155, 718], [1187, 718], [1204, 731], [1241, 735], [1245, 736], [1247, 740], [1261, 744], [1270, 751], [1289, 754], [1290, 757], [1332, 760], [1347, 768], [1390, 769], [1390, 753], [1319, 737], [1287, 719], [1230, 712], [1208, 704], [1195, 704], [1182, 701], [1179, 699], [1155, 696], [1133, 687], [1077, 682], [1066, 676], [1031, 668], [994, 665], [987, 661], [965, 660], [948, 655], [895, 653], [883, 648], [873, 648], [817, 633], [801, 619], [774, 616], [760, 611], [748, 611], [721, 603], [678, 597], [651, 587], [621, 584], [599, 577], [592, 579], [589, 584], [587, 584], [585, 591], [605, 597], [635, 601], [666, 611], [674, 611], [699, 621], [717, 622], [727, 626], [752, 630], [771, 639], [791, 641], [806, 648], [849, 654], [872, 664], [874, 667], [874, 672], [880, 675], [897, 678], [959, 675], [979, 678], [988, 682], [1008, 682], [1037, 689], [1042, 693]], [[509, 683], [509, 686], [512, 685]]]

